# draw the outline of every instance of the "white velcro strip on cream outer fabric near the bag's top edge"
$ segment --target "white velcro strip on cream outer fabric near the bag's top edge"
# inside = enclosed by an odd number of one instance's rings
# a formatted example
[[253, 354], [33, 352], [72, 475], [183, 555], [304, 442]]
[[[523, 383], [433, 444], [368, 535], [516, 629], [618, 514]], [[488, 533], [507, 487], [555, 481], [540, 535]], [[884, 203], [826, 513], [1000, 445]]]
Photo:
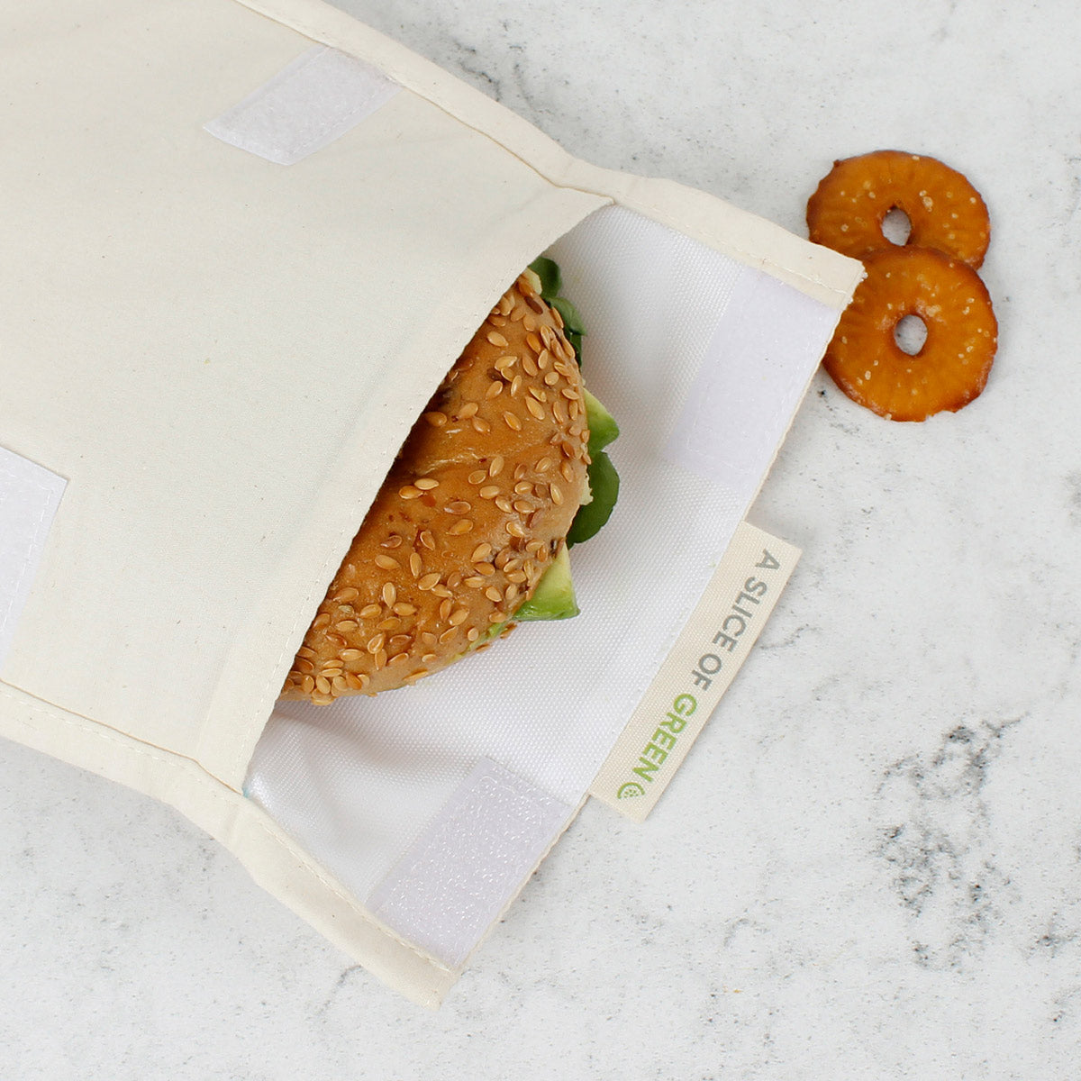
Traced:
[[370, 64], [317, 45], [204, 128], [241, 150], [292, 165], [343, 136], [399, 90]]

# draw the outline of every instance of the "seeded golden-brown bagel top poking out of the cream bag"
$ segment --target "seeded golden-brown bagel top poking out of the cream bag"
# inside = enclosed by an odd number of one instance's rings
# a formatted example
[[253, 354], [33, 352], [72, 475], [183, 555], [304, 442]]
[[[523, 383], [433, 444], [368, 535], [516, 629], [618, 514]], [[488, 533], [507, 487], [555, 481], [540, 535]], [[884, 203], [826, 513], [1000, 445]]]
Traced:
[[507, 623], [587, 492], [582, 377], [532, 271], [413, 426], [297, 651], [284, 698], [326, 705], [444, 668]]

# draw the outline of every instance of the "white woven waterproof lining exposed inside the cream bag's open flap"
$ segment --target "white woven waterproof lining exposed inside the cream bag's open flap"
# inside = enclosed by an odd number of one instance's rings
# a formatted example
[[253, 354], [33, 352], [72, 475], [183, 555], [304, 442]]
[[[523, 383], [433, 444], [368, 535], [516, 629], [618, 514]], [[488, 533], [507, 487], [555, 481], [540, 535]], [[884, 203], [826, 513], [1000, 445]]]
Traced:
[[[596, 212], [550, 254], [586, 324], [587, 384], [622, 428], [609, 449], [619, 502], [572, 552], [582, 615], [523, 626], [409, 690], [279, 703], [251, 763], [248, 795], [359, 898], [481, 759], [579, 803], [743, 519], [836, 319], [624, 208]], [[726, 351], [734, 295], [739, 349]], [[704, 388], [717, 424], [699, 409], [680, 435]], [[724, 454], [737, 413], [757, 438], [725, 458], [725, 483], [700, 464]]]

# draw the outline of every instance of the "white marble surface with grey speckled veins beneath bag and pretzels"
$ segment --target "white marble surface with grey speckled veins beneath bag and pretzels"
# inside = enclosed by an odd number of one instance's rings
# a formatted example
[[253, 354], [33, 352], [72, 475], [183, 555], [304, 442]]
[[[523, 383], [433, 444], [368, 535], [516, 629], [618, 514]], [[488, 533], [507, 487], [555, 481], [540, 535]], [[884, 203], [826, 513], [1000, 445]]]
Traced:
[[1081, 13], [339, 0], [600, 164], [803, 231], [836, 157], [983, 191], [988, 388], [819, 377], [757, 507], [804, 549], [643, 827], [587, 806], [439, 1013], [171, 811], [0, 746], [4, 1078], [1081, 1072]]

